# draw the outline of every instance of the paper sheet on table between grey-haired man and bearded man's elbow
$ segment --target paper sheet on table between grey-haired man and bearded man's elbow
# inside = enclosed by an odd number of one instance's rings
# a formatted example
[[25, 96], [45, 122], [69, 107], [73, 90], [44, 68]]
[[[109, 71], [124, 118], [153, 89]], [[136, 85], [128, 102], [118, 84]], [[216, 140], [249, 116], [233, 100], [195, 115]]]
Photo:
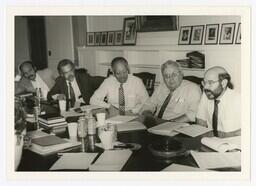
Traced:
[[200, 125], [189, 125], [186, 127], [175, 129], [176, 132], [179, 132], [179, 133], [191, 136], [191, 137], [200, 136], [200, 135], [205, 134], [211, 130], [212, 129], [206, 128], [206, 127], [203, 127]]

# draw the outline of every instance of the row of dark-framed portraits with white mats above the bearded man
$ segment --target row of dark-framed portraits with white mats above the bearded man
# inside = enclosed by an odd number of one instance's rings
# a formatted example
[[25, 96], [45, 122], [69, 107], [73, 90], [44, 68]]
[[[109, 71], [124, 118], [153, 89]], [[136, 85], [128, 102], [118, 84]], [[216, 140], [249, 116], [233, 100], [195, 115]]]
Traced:
[[[219, 35], [219, 24], [207, 24], [205, 30], [204, 44], [214, 45], [233, 44], [235, 36], [236, 23], [223, 23]], [[179, 34], [179, 45], [201, 45], [204, 36], [204, 25], [182, 26]], [[220, 37], [218, 37], [220, 36]], [[241, 23], [235, 38], [236, 44], [241, 44]]]

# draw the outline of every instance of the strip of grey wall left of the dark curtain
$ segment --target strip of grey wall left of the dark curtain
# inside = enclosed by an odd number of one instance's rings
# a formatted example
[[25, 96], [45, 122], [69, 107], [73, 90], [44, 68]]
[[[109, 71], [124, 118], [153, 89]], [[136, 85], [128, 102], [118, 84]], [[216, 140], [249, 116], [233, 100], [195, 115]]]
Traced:
[[15, 17], [15, 74], [23, 61], [30, 60], [28, 25], [25, 17]]

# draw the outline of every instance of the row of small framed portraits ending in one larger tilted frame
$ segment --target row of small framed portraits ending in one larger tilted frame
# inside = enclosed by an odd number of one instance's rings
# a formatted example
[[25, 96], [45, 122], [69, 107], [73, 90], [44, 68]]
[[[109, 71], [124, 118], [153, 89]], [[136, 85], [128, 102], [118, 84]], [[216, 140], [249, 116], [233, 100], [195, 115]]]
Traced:
[[135, 17], [124, 18], [123, 30], [106, 32], [87, 32], [87, 46], [120, 46], [136, 44]]

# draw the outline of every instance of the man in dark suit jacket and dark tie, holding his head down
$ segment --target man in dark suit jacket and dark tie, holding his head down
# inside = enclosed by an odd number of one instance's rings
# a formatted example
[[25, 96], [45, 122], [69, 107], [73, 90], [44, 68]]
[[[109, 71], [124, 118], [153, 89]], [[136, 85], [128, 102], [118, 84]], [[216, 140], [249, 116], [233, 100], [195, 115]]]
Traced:
[[75, 69], [74, 63], [69, 59], [63, 59], [58, 64], [60, 76], [55, 85], [49, 91], [48, 100], [66, 99], [67, 109], [75, 106], [76, 102], [89, 104], [93, 94], [91, 76], [85, 69]]

